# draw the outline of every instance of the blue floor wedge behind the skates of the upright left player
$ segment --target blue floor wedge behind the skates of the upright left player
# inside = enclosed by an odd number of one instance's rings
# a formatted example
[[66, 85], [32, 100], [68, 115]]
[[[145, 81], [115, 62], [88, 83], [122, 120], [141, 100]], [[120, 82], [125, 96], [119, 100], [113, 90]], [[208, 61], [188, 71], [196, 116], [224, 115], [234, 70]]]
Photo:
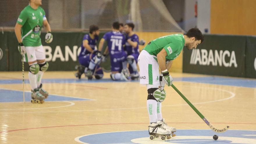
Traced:
[[[25, 92], [25, 101], [30, 102], [31, 92]], [[73, 100], [91, 100], [76, 97], [67, 97], [61, 95], [49, 95], [45, 101], [73, 101]], [[23, 102], [23, 91], [6, 90], [0, 88], [0, 102]]]

